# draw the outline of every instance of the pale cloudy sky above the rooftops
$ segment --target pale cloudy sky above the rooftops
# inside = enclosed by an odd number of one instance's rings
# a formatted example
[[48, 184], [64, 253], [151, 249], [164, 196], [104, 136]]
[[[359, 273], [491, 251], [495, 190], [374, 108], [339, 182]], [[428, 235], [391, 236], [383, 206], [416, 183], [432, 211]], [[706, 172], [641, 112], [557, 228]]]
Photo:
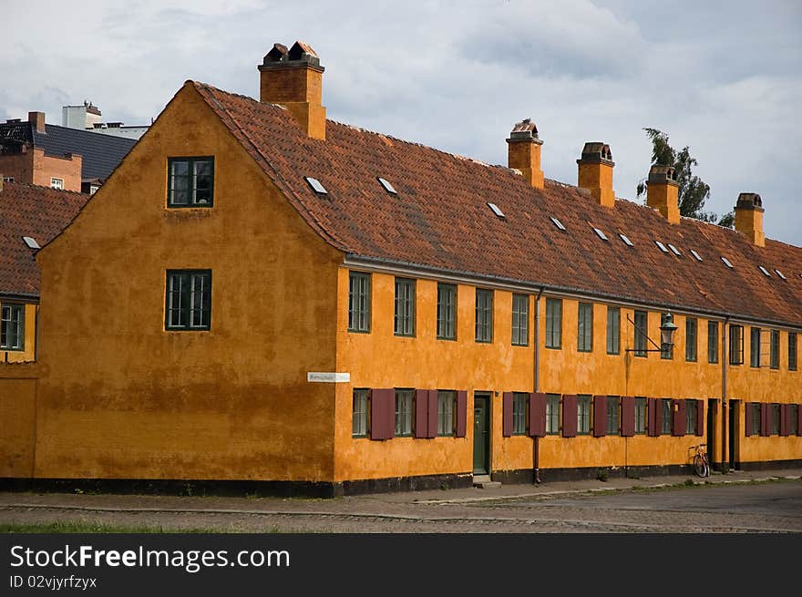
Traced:
[[760, 193], [766, 236], [802, 246], [802, 2], [0, 0], [0, 118], [92, 101], [148, 124], [186, 79], [258, 97], [274, 42], [317, 51], [329, 118], [505, 164], [532, 118], [548, 178], [610, 144], [636, 198], [651, 144], [688, 146], [708, 211]]

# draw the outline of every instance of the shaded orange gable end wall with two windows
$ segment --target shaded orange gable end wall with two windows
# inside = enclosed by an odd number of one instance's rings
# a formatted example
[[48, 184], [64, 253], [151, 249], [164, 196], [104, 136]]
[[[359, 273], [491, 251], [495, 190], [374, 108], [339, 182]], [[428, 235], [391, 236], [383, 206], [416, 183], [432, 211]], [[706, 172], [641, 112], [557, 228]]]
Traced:
[[[170, 156], [214, 206], [166, 209]], [[336, 263], [189, 84], [41, 266], [36, 476], [333, 475]], [[167, 269], [211, 269], [211, 330], [166, 332]]]

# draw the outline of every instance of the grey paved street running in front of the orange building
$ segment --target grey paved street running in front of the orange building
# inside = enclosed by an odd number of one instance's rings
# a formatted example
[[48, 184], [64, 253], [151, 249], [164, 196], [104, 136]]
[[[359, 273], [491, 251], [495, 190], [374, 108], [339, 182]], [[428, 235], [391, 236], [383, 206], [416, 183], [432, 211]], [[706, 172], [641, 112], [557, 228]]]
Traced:
[[341, 499], [0, 493], [0, 522], [56, 520], [224, 532], [800, 533], [802, 479]]

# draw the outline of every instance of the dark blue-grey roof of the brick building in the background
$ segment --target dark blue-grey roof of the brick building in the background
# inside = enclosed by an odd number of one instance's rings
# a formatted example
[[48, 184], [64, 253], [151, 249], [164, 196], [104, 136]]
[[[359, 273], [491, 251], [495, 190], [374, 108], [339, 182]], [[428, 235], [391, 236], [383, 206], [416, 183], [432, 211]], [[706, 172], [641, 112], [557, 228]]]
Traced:
[[108, 179], [137, 142], [137, 139], [124, 139], [90, 130], [68, 129], [54, 124], [46, 124], [45, 130], [45, 133], [40, 133], [29, 122], [0, 124], [0, 142], [33, 142], [34, 147], [45, 149], [45, 153], [50, 156], [78, 153], [83, 158], [83, 180]]

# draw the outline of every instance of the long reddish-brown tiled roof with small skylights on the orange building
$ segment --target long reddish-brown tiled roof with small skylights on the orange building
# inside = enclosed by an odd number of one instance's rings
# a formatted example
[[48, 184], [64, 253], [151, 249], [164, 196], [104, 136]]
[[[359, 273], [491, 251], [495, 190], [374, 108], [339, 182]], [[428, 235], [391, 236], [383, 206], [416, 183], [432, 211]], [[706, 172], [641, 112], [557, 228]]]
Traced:
[[[632, 201], [604, 208], [576, 187], [552, 180], [537, 190], [507, 168], [331, 120], [326, 140], [309, 139], [283, 108], [188, 84], [314, 230], [344, 252], [658, 308], [684, 306], [802, 325], [799, 247], [767, 241], [765, 249], [757, 248], [744, 234], [690, 219], [670, 225]], [[320, 180], [328, 194], [316, 194], [305, 176]], [[388, 193], [376, 177], [389, 180], [398, 194]], [[488, 201], [499, 206], [504, 220], [493, 215]], [[670, 242], [683, 254], [663, 253], [654, 241]], [[697, 262], [691, 249], [704, 261]], [[772, 277], [760, 273], [759, 265]]]

